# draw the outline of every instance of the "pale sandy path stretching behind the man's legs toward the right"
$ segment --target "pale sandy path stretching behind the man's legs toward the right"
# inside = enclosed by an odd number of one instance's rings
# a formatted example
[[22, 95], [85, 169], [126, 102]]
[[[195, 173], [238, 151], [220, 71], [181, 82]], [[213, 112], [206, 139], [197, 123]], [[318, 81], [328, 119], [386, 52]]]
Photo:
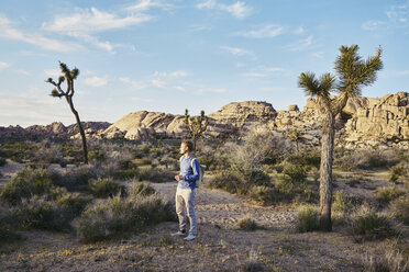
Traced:
[[[176, 182], [152, 183], [152, 185], [175, 203]], [[278, 209], [251, 205], [240, 196], [206, 188], [197, 189], [196, 211], [199, 224], [211, 224], [226, 229], [237, 227], [239, 220], [246, 216], [267, 228], [287, 228], [294, 225], [296, 219], [294, 209], [284, 211], [283, 207]]]

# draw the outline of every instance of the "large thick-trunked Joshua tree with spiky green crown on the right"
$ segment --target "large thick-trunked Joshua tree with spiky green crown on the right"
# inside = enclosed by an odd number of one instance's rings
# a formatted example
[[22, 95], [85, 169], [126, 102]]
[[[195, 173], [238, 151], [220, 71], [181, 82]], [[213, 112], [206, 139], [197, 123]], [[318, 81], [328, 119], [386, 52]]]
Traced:
[[[383, 68], [382, 48], [375, 56], [363, 60], [358, 56], [358, 46], [341, 46], [341, 55], [335, 59], [336, 76], [324, 73], [316, 78], [313, 72], [302, 72], [298, 84], [307, 95], [317, 98], [322, 114], [321, 166], [320, 166], [320, 228], [331, 231], [332, 202], [332, 160], [335, 136], [335, 116], [346, 105], [350, 98], [361, 95], [362, 87], [376, 80], [376, 73]], [[330, 95], [335, 92], [338, 95]]]

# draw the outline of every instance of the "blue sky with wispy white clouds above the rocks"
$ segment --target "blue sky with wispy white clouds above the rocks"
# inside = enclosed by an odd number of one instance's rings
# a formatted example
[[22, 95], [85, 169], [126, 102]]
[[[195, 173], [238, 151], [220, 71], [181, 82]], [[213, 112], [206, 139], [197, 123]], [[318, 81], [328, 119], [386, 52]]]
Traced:
[[58, 61], [80, 71], [87, 122], [250, 100], [302, 109], [299, 75], [334, 73], [352, 44], [365, 59], [383, 48], [363, 95], [409, 92], [409, 0], [1, 0], [0, 126], [75, 123], [45, 82]]

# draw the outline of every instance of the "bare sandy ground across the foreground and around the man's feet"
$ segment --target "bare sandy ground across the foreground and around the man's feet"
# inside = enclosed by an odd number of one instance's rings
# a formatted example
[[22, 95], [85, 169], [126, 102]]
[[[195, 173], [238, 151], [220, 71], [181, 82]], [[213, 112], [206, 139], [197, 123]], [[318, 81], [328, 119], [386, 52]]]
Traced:
[[[176, 182], [153, 186], [174, 202]], [[175, 222], [128, 239], [90, 245], [73, 234], [24, 231], [23, 241], [0, 247], [0, 271], [240, 271], [251, 264], [264, 271], [362, 271], [363, 259], [382, 251], [382, 242], [355, 243], [336, 229], [297, 234], [295, 209], [255, 206], [200, 188], [199, 235], [194, 241], [169, 236], [178, 228]], [[237, 222], [247, 216], [264, 229], [239, 230]]]

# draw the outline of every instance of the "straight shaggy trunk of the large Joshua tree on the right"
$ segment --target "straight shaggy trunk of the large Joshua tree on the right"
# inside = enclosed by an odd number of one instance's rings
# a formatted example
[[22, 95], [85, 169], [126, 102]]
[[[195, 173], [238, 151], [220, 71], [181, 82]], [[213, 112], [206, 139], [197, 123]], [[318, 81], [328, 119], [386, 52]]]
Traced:
[[321, 166], [320, 166], [320, 228], [332, 230], [332, 159], [335, 136], [335, 117], [331, 111], [325, 111], [322, 121]]

